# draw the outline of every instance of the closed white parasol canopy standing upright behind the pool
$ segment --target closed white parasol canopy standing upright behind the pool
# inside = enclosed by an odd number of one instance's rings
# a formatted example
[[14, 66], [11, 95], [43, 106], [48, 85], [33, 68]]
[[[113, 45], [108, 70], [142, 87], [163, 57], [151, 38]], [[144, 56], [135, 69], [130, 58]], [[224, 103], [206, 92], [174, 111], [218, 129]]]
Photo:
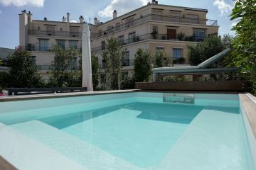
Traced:
[[93, 91], [92, 86], [92, 64], [90, 50], [90, 28], [88, 23], [82, 26], [82, 87], [87, 91]]

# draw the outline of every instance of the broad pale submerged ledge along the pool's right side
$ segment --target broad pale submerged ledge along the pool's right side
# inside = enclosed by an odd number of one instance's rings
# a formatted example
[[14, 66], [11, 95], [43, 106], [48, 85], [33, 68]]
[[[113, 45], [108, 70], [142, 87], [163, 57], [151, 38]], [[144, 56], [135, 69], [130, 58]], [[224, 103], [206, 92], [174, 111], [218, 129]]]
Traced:
[[240, 119], [232, 108], [204, 109], [176, 141], [159, 169], [252, 169]]

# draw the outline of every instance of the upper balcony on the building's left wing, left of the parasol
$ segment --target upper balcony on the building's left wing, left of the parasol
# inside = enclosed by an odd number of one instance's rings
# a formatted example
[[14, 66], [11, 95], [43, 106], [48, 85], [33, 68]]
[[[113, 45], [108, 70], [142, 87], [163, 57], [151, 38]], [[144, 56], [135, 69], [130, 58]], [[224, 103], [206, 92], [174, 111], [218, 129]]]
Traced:
[[67, 31], [28, 30], [28, 35], [45, 35], [45, 36], [82, 38], [82, 33], [80, 32], [67, 32]]

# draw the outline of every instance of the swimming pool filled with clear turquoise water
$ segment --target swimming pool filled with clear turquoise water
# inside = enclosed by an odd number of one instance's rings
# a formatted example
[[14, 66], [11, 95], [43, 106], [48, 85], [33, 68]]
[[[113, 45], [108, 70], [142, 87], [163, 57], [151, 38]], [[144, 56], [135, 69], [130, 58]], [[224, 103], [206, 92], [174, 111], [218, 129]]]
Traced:
[[87, 169], [254, 169], [237, 94], [133, 92], [0, 108], [0, 123]]

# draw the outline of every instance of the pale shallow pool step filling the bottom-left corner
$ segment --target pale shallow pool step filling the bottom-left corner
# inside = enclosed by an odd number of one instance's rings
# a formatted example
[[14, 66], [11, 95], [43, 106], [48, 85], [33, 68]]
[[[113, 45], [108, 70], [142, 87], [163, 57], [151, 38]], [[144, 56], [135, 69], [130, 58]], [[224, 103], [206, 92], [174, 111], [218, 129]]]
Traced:
[[0, 123], [0, 155], [17, 169], [86, 170], [63, 154]]

